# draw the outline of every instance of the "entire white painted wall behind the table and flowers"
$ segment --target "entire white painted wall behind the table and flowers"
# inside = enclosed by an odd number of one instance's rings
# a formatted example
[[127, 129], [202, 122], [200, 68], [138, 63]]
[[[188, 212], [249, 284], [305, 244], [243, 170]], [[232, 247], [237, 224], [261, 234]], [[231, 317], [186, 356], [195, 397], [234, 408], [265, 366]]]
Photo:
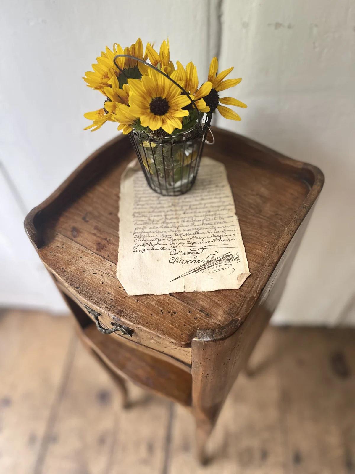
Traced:
[[83, 113], [101, 107], [81, 79], [96, 56], [169, 35], [173, 58], [194, 60], [201, 81], [213, 55], [243, 77], [231, 91], [248, 104], [242, 121], [217, 125], [326, 175], [274, 321], [355, 322], [353, 0], [13, 0], [1, 10], [0, 304], [65, 310], [22, 221], [117, 133], [82, 130]]

